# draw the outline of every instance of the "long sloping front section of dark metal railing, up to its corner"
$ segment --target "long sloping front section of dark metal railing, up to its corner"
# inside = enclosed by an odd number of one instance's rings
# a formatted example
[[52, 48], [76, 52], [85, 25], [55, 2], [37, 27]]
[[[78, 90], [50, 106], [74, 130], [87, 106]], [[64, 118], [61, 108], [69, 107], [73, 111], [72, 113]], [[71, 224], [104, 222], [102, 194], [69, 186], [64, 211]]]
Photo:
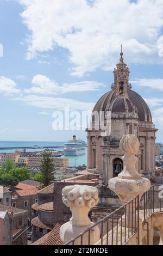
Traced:
[[101, 245], [125, 245], [136, 233], [139, 244], [139, 196], [111, 212], [65, 245], [92, 245], [91, 233], [97, 225], [101, 231]]

